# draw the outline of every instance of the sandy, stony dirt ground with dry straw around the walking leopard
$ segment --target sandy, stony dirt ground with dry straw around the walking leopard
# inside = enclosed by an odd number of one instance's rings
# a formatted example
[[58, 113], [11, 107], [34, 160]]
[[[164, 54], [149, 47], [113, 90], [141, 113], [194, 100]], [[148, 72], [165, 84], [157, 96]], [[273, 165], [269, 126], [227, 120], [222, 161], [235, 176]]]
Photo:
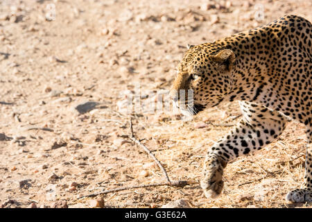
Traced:
[[[55, 10], [54, 10], [55, 9]], [[209, 200], [200, 189], [207, 148], [241, 118], [223, 103], [182, 121], [173, 112], [125, 112], [140, 85], [141, 104], [169, 89], [187, 44], [267, 24], [285, 14], [312, 21], [312, 1], [0, 1], [1, 207], [311, 207], [286, 203], [302, 185], [306, 135], [288, 123], [274, 143], [225, 169]], [[55, 13], [54, 13], [55, 12]], [[166, 95], [164, 99], [168, 99]], [[165, 182], [181, 187], [98, 191]], [[96, 202], [98, 200], [98, 202]], [[95, 202], [94, 202], [95, 201]]]

